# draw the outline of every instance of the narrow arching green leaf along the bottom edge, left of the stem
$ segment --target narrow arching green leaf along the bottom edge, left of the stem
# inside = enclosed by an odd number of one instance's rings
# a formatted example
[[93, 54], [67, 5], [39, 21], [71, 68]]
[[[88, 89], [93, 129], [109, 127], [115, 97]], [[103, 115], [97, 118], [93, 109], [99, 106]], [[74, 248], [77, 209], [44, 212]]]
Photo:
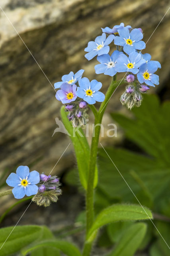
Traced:
[[71, 244], [70, 242], [57, 239], [37, 242], [36, 244], [27, 248], [26, 250], [22, 250], [22, 255], [25, 256], [29, 252], [32, 252], [33, 250], [37, 250], [42, 247], [57, 248], [68, 256], [81, 256], [80, 250], [75, 245]]

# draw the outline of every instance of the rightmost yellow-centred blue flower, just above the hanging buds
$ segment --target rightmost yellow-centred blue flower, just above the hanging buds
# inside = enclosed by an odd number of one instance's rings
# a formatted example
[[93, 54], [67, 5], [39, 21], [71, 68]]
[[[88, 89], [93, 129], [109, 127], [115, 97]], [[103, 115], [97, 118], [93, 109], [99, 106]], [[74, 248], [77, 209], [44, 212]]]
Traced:
[[153, 61], [144, 63], [139, 68], [139, 73], [137, 74], [138, 81], [141, 84], [143, 82], [145, 82], [145, 84], [147, 84], [149, 86], [154, 86], [154, 84], [158, 85], [159, 84], [159, 76], [154, 74], [154, 72], [156, 72], [157, 69], [158, 69], [158, 66]]

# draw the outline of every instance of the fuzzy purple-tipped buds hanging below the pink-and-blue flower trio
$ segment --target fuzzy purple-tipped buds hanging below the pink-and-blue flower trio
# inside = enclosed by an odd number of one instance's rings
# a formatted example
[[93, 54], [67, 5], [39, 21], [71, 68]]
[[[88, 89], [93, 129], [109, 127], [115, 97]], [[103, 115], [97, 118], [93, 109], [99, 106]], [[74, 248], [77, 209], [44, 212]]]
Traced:
[[72, 122], [73, 127], [86, 126], [86, 119], [88, 118], [87, 103], [85, 101], [75, 101], [74, 103], [67, 104], [65, 111], [69, 112], [68, 120]]

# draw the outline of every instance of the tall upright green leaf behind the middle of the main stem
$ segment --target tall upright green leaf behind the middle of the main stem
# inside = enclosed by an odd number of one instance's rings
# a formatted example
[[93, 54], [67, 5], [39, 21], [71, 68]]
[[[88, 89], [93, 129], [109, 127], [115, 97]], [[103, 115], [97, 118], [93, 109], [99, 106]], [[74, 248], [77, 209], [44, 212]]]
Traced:
[[[70, 134], [69, 137], [72, 140], [72, 144], [74, 146], [80, 182], [82, 186], [86, 189], [87, 178], [88, 178], [88, 163], [90, 159], [90, 146], [88, 144], [88, 141], [82, 129], [81, 128], [78, 129], [78, 131], [80, 132], [79, 134], [79, 132], [75, 131], [75, 129], [72, 127], [71, 122], [68, 121], [67, 113], [64, 110], [64, 106], [61, 108], [61, 118], [66, 130], [68, 131], [68, 134]], [[94, 187], [96, 187], [97, 183], [98, 183], [98, 170], [96, 167]]]

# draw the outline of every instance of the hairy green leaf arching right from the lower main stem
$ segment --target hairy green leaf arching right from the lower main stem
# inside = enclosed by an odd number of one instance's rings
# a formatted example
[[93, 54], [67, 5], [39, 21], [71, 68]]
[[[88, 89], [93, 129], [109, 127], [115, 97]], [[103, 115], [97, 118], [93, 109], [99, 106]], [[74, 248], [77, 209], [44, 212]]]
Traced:
[[139, 205], [115, 204], [102, 210], [102, 212], [98, 214], [87, 238], [90, 241], [98, 228], [111, 222], [125, 220], [147, 220], [149, 218], [152, 218], [152, 213], [146, 207], [142, 208]]

